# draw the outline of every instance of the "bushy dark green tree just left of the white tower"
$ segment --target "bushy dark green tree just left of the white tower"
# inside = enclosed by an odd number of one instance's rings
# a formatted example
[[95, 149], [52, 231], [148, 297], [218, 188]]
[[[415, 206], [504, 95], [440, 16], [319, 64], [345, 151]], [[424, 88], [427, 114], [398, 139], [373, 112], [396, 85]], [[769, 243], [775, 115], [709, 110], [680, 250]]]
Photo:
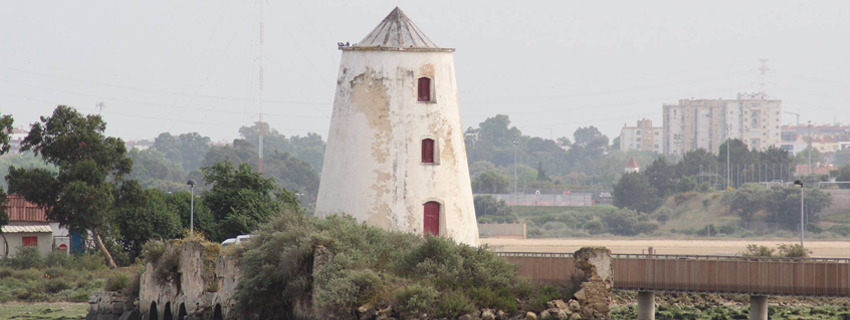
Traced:
[[279, 188], [272, 179], [263, 178], [246, 163], [234, 167], [223, 161], [203, 168], [204, 181], [212, 188], [204, 192], [204, 205], [218, 223], [217, 232], [208, 235], [222, 241], [246, 234], [260, 223], [280, 213], [298, 208], [295, 195]]

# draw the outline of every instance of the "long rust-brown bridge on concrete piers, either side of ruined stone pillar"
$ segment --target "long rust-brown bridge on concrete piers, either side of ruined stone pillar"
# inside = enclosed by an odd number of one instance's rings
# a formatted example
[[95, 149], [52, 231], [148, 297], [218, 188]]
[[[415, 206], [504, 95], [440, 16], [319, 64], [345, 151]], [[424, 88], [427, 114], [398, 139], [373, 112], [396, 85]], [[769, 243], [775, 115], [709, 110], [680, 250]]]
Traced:
[[[545, 283], [581, 271], [570, 253], [500, 252]], [[850, 296], [850, 259], [614, 254], [614, 288], [638, 291], [638, 319], [655, 318], [657, 292], [750, 295], [750, 318], [767, 319], [767, 296]]]

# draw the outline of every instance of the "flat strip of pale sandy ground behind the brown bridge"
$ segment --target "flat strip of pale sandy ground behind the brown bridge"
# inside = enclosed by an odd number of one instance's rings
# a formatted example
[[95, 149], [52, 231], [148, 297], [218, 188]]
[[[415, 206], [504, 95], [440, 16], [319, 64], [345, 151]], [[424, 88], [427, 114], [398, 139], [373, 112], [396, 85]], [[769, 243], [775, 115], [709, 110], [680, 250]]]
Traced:
[[[575, 252], [581, 247], [604, 246], [613, 253], [646, 253], [652, 247], [656, 254], [736, 255], [748, 244], [776, 248], [780, 243], [799, 243], [799, 239], [788, 240], [689, 240], [689, 239], [496, 239], [481, 238], [493, 251], [505, 252]], [[806, 249], [814, 257], [850, 258], [848, 241], [806, 241]]]

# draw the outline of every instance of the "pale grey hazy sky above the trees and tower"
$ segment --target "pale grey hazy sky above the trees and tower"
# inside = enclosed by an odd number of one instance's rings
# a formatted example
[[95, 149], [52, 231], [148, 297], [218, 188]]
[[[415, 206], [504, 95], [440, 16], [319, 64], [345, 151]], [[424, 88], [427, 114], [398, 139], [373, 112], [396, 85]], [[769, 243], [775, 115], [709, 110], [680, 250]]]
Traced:
[[457, 49], [464, 128], [501, 113], [530, 135], [594, 125], [613, 139], [641, 117], [660, 126], [664, 103], [762, 83], [802, 122], [850, 122], [850, 1], [776, 0], [12, 1], [0, 6], [0, 112], [28, 126], [59, 104], [102, 102], [109, 135], [215, 141], [262, 112], [283, 134], [326, 137], [336, 43], [395, 6]]

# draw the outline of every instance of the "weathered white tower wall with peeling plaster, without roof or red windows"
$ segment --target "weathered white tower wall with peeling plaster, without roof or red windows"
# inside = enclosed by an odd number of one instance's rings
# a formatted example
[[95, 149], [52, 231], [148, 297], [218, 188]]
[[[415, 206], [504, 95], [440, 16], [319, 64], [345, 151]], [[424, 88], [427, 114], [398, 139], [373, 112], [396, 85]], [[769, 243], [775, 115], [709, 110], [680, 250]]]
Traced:
[[[417, 101], [432, 78], [435, 102]], [[421, 140], [438, 164], [421, 163]], [[440, 234], [478, 240], [454, 60], [448, 51], [343, 50], [316, 213], [423, 232], [423, 204], [441, 203]]]

